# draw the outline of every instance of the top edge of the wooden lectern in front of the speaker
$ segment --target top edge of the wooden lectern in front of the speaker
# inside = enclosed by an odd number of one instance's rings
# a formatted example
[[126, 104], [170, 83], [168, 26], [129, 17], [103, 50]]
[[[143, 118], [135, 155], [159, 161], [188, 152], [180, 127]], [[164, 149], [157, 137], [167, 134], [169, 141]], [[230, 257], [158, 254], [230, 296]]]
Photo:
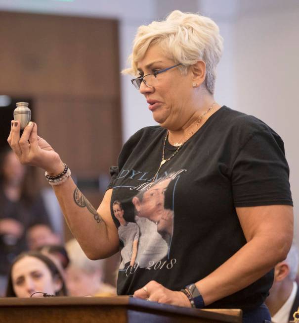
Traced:
[[[175, 314], [188, 315], [206, 319], [221, 319], [222, 322], [239, 323], [242, 318], [242, 311], [235, 309], [205, 309], [197, 310], [169, 304], [156, 302], [148, 302], [143, 299], [133, 298], [130, 296], [115, 296], [115, 297], [53, 297], [53, 298], [17, 298], [7, 297], [0, 298], [1, 306], [76, 306], [76, 305], [110, 305], [123, 306], [127, 305], [132, 310], [146, 311], [168, 311]], [[223, 318], [225, 315], [225, 318]], [[223, 319], [225, 321], [223, 321]]]

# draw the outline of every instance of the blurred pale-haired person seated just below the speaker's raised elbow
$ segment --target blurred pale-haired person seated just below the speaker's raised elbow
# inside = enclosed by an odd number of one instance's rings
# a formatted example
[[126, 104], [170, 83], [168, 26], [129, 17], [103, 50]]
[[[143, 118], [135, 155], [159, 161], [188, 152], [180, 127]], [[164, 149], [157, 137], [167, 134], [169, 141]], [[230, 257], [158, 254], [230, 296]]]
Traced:
[[65, 246], [70, 264], [66, 282], [70, 296], [116, 296], [116, 288], [102, 281], [105, 260], [90, 260], [76, 239]]

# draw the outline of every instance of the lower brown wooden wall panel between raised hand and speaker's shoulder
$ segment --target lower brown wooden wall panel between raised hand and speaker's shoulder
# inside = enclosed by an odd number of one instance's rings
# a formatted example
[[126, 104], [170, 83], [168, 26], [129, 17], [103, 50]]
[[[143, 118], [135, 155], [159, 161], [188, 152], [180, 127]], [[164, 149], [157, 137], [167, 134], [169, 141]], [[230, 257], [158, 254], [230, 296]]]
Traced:
[[37, 98], [39, 134], [77, 175], [92, 177], [108, 172], [119, 153], [117, 102], [101, 99]]

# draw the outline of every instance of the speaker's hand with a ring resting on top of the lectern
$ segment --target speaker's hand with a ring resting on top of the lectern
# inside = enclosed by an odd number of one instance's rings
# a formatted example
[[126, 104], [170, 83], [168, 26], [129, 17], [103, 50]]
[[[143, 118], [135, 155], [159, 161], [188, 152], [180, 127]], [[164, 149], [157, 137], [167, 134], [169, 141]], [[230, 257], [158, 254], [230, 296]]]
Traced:
[[155, 280], [136, 290], [133, 296], [151, 302], [191, 307], [188, 297], [183, 292], [170, 290]]

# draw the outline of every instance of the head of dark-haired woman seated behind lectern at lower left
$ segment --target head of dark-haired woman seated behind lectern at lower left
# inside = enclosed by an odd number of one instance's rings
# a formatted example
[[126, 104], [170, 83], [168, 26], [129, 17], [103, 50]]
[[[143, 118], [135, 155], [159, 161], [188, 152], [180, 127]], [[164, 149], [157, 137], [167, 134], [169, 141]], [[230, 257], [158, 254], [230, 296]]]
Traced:
[[67, 296], [60, 271], [50, 258], [40, 252], [20, 254], [11, 265], [5, 296], [43, 297], [44, 293]]

